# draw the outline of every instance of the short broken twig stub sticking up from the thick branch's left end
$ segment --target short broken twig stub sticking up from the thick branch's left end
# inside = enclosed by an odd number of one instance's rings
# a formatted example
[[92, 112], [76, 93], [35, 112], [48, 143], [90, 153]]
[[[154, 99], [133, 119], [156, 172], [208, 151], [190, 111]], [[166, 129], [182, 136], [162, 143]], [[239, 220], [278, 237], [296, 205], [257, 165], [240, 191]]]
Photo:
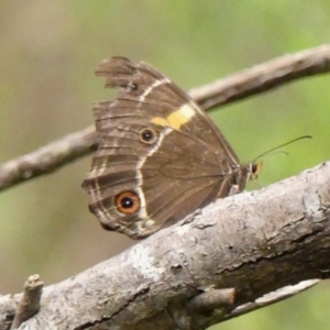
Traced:
[[40, 299], [44, 283], [38, 275], [32, 275], [24, 284], [23, 297], [11, 324], [11, 330], [18, 329], [24, 321], [29, 320], [40, 309]]

